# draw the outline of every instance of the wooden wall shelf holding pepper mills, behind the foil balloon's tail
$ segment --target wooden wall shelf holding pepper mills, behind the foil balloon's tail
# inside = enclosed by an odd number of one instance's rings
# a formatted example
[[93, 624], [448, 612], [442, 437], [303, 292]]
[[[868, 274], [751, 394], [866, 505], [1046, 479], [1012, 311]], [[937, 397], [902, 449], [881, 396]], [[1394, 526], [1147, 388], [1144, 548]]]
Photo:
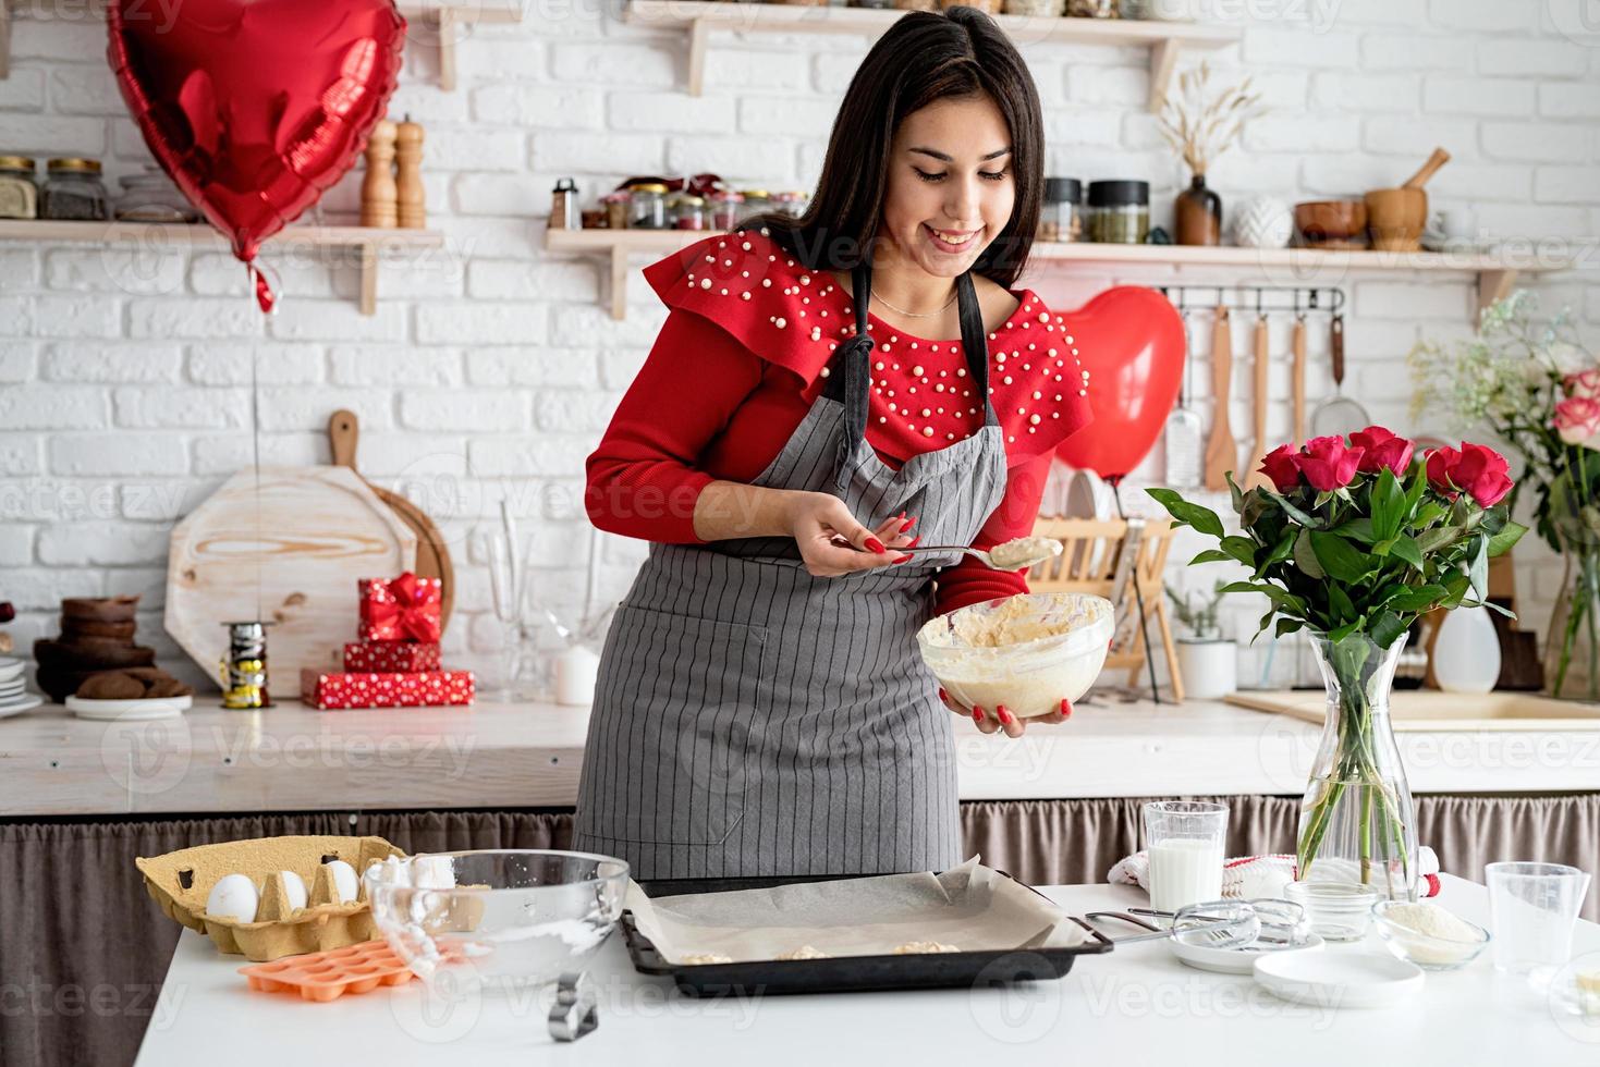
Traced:
[[[226, 251], [229, 243], [210, 226], [162, 226], [154, 222], [56, 222], [48, 219], [0, 219], [0, 240], [35, 245], [90, 243], [107, 248], [205, 248]], [[261, 251], [270, 256], [285, 248], [338, 248], [355, 253], [350, 266], [362, 272], [360, 309], [378, 310], [378, 262], [382, 253], [413, 253], [443, 248], [438, 230], [381, 230], [365, 226], [291, 226]]]

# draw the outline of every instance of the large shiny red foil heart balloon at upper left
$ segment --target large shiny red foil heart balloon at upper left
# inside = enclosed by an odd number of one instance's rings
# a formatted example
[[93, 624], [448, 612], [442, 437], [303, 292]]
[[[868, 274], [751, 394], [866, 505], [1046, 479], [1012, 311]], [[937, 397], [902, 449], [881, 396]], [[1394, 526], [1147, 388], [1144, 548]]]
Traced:
[[400, 72], [394, 0], [114, 0], [107, 54], [146, 144], [250, 262], [355, 163]]

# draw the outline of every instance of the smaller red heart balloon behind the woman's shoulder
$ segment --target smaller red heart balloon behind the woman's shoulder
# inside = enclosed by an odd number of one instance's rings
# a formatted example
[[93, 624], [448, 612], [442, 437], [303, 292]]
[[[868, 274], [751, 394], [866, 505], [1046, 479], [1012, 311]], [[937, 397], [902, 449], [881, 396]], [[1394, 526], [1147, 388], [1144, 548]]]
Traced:
[[1094, 421], [1056, 454], [1078, 470], [1120, 478], [1150, 454], [1178, 402], [1189, 352], [1182, 318], [1165, 296], [1139, 285], [1106, 290], [1062, 318], [1090, 373]]

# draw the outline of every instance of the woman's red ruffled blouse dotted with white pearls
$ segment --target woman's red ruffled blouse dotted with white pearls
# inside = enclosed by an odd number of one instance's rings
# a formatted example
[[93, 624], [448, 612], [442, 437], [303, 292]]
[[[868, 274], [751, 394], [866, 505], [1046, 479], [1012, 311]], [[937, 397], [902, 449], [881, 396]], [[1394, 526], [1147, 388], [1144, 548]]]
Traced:
[[[666, 544], [704, 544], [694, 501], [714, 480], [750, 482], [782, 451], [824, 387], [827, 362], [854, 334], [848, 290], [741, 230], [707, 237], [645, 269], [670, 307], [666, 325], [587, 462], [595, 526]], [[1086, 374], [1062, 317], [1029, 290], [989, 334], [989, 392], [1010, 472], [973, 541], [987, 549], [1032, 531], [1053, 450], [1090, 422]], [[893, 467], [982, 427], [962, 342], [914, 338], [870, 317], [874, 381], [867, 443]], [[866, 522], [866, 517], [862, 517]], [[941, 571], [938, 611], [1027, 592], [1021, 571], [978, 560]]]

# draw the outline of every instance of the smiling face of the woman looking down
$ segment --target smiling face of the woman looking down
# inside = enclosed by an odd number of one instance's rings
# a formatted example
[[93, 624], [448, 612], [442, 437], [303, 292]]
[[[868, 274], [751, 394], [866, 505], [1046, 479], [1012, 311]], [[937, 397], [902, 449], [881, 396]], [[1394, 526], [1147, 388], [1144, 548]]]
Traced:
[[931, 275], [968, 270], [1011, 221], [1011, 133], [989, 96], [949, 98], [901, 122], [882, 234]]

